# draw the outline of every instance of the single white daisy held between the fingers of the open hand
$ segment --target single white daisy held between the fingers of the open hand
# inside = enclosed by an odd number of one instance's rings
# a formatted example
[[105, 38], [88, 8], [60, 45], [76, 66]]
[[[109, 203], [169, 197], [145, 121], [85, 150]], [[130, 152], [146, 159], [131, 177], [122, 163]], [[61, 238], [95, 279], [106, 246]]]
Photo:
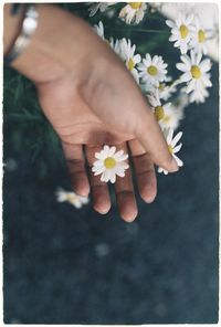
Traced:
[[125, 162], [128, 155], [123, 150], [116, 151], [116, 147], [104, 146], [101, 152], [95, 154], [97, 159], [92, 171], [95, 176], [102, 175], [101, 181], [115, 183], [116, 176], [125, 177], [125, 170], [129, 168], [129, 165]]

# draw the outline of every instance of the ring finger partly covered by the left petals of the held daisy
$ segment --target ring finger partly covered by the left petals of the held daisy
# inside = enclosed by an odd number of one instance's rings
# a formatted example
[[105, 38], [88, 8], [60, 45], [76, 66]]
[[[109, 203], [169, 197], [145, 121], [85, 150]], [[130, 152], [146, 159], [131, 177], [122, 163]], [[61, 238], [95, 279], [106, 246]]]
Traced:
[[99, 152], [101, 150], [102, 150], [101, 146], [96, 146], [96, 147], [85, 146], [86, 158], [90, 166], [88, 175], [90, 175], [93, 208], [97, 212], [105, 214], [109, 211], [112, 205], [108, 187], [105, 182], [101, 181], [101, 175], [94, 176], [94, 173], [92, 172], [92, 166], [96, 160], [95, 152]]

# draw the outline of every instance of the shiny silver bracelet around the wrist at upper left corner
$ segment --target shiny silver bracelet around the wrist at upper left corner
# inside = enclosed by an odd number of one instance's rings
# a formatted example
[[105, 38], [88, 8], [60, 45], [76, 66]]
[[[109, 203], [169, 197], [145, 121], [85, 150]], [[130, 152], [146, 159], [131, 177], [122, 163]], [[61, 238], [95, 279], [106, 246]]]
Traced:
[[10, 52], [4, 56], [4, 63], [10, 64], [15, 60], [29, 45], [31, 36], [38, 27], [39, 13], [34, 4], [29, 4], [24, 13], [21, 33], [17, 38]]

